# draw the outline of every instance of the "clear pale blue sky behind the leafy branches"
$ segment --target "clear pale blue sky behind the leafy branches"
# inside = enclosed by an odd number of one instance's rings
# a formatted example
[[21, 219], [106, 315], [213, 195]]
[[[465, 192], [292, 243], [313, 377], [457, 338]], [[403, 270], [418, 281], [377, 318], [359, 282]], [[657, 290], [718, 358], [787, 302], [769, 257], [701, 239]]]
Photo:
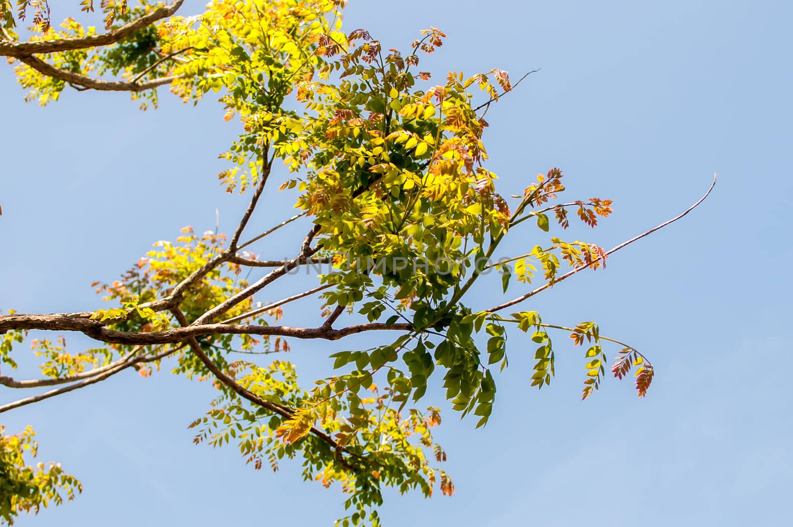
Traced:
[[[56, 18], [76, 10], [61, 3]], [[647, 398], [608, 379], [580, 402], [583, 357], [563, 334], [555, 382], [530, 390], [533, 348], [514, 336], [488, 426], [444, 412], [437, 439], [457, 494], [388, 493], [385, 525], [790, 525], [791, 19], [790, 2], [770, 1], [351, 0], [346, 29], [369, 29], [385, 48], [406, 48], [429, 25], [448, 33], [426, 62], [439, 82], [446, 71], [500, 67], [517, 79], [542, 68], [488, 112], [485, 139], [504, 194], [557, 166], [569, 196], [615, 199], [602, 226], [566, 237], [609, 248], [680, 213], [719, 175], [683, 221], [525, 306], [561, 325], [597, 321], [645, 351], [656, 366]], [[212, 101], [193, 108], [161, 94], [157, 111], [74, 90], [41, 109], [0, 67], [0, 308], [98, 307], [89, 284], [115, 279], [155, 240], [183, 225], [214, 229], [216, 208], [220, 229], [233, 228], [243, 200], [217, 186], [216, 155], [236, 125]], [[289, 211], [274, 189], [266, 199], [251, 232]], [[516, 253], [538, 240], [525, 232]], [[291, 250], [288, 234], [277, 241], [259, 251]], [[492, 305], [496, 289], [477, 290], [477, 302]], [[311, 307], [285, 313], [311, 323]], [[309, 382], [331, 352], [367, 342], [293, 341], [288, 358]], [[3, 402], [19, 396], [0, 390]], [[40, 458], [85, 486], [18, 525], [331, 525], [342, 515], [339, 489], [301, 482], [297, 466], [254, 471], [233, 447], [193, 445], [186, 426], [212, 397], [208, 383], [125, 372], [3, 414], [9, 432], [33, 425]]]

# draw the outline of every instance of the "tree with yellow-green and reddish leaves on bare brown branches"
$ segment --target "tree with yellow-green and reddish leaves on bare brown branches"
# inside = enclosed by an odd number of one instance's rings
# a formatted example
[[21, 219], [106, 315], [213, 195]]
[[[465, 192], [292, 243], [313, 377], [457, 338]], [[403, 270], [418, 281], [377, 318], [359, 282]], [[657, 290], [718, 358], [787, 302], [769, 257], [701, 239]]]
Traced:
[[[97, 32], [71, 18], [52, 27], [46, 0], [20, 0], [16, 10], [0, 2], [0, 53], [29, 90], [27, 100], [46, 105], [67, 85], [128, 91], [144, 107], [156, 106], [156, 88], [164, 85], [184, 102], [219, 94], [226, 120], [242, 123], [239, 138], [220, 155], [229, 162], [220, 180], [229, 192], [250, 195], [230, 237], [186, 227], [175, 243], [155, 244], [121, 279], [94, 283], [109, 302], [104, 309], [0, 315], [0, 358], [12, 368], [18, 344], [30, 332], [44, 332], [29, 340], [43, 360], [42, 378], [2, 376], [0, 383], [48, 388], [3, 404], [0, 413], [128, 368], [147, 376], [163, 366], [174, 375], [213, 379], [216, 401], [190, 425], [197, 443], [236, 444], [256, 468], [275, 469], [283, 457], [301, 456], [305, 479], [343, 487], [351, 510], [339, 520], [343, 525], [377, 525], [384, 486], [425, 496], [436, 486], [454, 492], [435, 467], [446, 459], [431, 436], [439, 410], [408, 403], [423, 402], [428, 383], [442, 379], [454, 410], [485, 425], [496, 395], [492, 368], [508, 364], [511, 326], [531, 332], [538, 345], [531, 386], [542, 388], [554, 377], [551, 334], [559, 330], [575, 345], [587, 343], [583, 398], [607, 375], [607, 348], [616, 355], [611, 374], [622, 379], [633, 370], [638, 395], [646, 394], [653, 366], [642, 352], [603, 337], [594, 322], [552, 324], [519, 305], [580, 271], [604, 267], [611, 253], [683, 217], [704, 197], [609, 251], [551, 237], [551, 218], [562, 230], [569, 215], [594, 227], [597, 217], [611, 213], [611, 201], [558, 199], [565, 188], [557, 168], [538, 175], [522, 195], [496, 193], [484, 116], [512, 89], [507, 72], [450, 73], [436, 84], [419, 71], [419, 56], [442, 45], [439, 29], [423, 31], [405, 52], [384, 50], [364, 29], [342, 31], [343, 3], [219, 0], [200, 15], [180, 17], [182, 0], [170, 6], [103, 0], [105, 29]], [[81, 5], [94, 10], [92, 0]], [[21, 39], [16, 20], [26, 16], [33, 23]], [[300, 212], [274, 218], [271, 229], [246, 239], [272, 179], [279, 191], [297, 189]], [[497, 252], [514, 229], [530, 229], [520, 225], [527, 221], [538, 227], [535, 244], [520, 255]], [[293, 256], [266, 260], [274, 248], [262, 240], [287, 225], [305, 229]], [[253, 252], [256, 244], [263, 257]], [[297, 278], [290, 271], [298, 267], [311, 272]], [[249, 281], [243, 270], [259, 278]], [[519, 293], [478, 306], [469, 290], [493, 277], [505, 294], [510, 287]], [[296, 294], [256, 302], [276, 280], [298, 282]], [[312, 295], [324, 302], [316, 325], [282, 323], [289, 320], [286, 304]], [[286, 360], [231, 358], [240, 351], [285, 352], [289, 340], [335, 341], [365, 332], [377, 344], [333, 353], [334, 371], [311, 389], [297, 383]], [[67, 351], [67, 333], [82, 333], [98, 348]], [[27, 464], [25, 456], [36, 452], [32, 429], [4, 434], [0, 426], [2, 519], [13, 522], [20, 511], [82, 490], [59, 465]]]

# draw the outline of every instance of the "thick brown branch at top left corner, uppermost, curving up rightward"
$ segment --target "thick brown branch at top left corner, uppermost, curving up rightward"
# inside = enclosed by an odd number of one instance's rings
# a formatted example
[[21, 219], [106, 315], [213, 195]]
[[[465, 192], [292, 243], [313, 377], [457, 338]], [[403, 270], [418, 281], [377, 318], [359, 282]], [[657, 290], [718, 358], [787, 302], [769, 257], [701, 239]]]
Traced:
[[138, 29], [144, 29], [148, 25], [155, 23], [155, 21], [170, 17], [172, 14], [176, 13], [183, 2], [184, 0], [175, 0], [170, 6], [160, 7], [158, 10], [154, 10], [137, 20], [133, 20], [126, 25], [122, 25], [118, 29], [114, 29], [102, 35], [64, 38], [59, 40], [37, 40], [35, 42], [8, 42], [0, 40], [0, 55], [21, 59], [21, 57], [30, 56], [33, 53], [65, 52], [72, 49], [96, 48], [98, 46], [115, 44], [119, 40], [135, 33]]

